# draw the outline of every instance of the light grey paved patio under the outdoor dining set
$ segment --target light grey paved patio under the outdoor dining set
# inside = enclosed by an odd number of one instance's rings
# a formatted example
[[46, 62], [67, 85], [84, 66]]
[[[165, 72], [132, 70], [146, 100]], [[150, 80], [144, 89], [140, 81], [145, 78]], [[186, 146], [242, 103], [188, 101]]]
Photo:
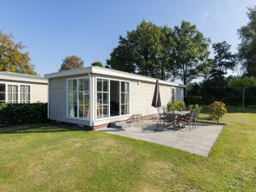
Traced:
[[155, 131], [156, 123], [155, 120], [144, 120], [143, 123], [127, 123], [123, 129], [107, 128], [98, 131], [154, 142], [207, 157], [223, 127], [222, 125], [199, 123], [199, 127], [192, 130], [186, 127], [181, 130]]

